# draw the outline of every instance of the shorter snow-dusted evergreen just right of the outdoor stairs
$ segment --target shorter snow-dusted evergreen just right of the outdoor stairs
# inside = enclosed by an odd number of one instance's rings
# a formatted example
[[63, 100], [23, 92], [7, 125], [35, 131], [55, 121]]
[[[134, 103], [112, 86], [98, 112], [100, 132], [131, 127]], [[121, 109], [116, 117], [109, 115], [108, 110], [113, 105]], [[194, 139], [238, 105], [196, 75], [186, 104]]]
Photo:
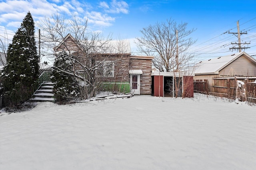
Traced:
[[52, 82], [56, 82], [53, 92], [59, 104], [72, 102], [79, 97], [78, 82], [74, 75], [70, 74], [72, 72], [72, 62], [68, 58], [68, 54], [63, 51], [56, 56], [52, 72]]

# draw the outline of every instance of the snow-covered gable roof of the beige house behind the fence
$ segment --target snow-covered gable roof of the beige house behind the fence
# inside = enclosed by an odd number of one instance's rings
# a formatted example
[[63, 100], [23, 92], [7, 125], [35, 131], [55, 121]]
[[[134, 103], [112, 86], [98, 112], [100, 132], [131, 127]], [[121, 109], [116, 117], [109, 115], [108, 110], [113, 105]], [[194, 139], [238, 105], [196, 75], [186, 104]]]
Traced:
[[222, 70], [224, 67], [226, 67], [228, 64], [232, 63], [242, 55], [252, 61], [252, 63], [256, 64], [256, 60], [254, 58], [252, 58], [245, 52], [240, 52], [233, 55], [227, 55], [223, 57], [200, 61], [195, 65], [195, 74], [219, 74], [220, 70]]

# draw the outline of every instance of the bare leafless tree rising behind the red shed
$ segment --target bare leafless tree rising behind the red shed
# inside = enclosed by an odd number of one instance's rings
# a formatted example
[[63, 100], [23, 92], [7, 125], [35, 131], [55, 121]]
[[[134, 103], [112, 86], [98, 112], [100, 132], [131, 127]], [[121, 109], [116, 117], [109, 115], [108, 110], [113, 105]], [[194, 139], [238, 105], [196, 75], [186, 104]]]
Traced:
[[195, 43], [188, 37], [195, 29], [187, 30], [188, 23], [177, 24], [174, 20], [156, 23], [140, 30], [142, 37], [136, 38], [138, 50], [154, 56], [153, 65], [161, 72], [180, 70], [193, 56], [185, 53]]

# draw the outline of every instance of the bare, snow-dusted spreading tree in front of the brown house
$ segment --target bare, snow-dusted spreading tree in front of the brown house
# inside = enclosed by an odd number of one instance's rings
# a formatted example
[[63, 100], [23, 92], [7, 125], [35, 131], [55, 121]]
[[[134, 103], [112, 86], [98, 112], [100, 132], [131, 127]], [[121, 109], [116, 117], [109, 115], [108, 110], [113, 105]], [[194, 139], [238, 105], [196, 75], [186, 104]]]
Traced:
[[[87, 20], [76, 16], [66, 20], [58, 14], [52, 15], [52, 18], [41, 21], [39, 27], [43, 45], [48, 49], [46, 55], [55, 56], [62, 51], [68, 54], [73, 71], [66, 73], [80, 82], [82, 99], [94, 97], [102, 90], [106, 78], [114, 80], [114, 64], [127, 57], [124, 52], [127, 44], [120, 41], [113, 45], [110, 35], [104, 38], [100, 32], [88, 31]], [[65, 72], [64, 69], [55, 69]]]

